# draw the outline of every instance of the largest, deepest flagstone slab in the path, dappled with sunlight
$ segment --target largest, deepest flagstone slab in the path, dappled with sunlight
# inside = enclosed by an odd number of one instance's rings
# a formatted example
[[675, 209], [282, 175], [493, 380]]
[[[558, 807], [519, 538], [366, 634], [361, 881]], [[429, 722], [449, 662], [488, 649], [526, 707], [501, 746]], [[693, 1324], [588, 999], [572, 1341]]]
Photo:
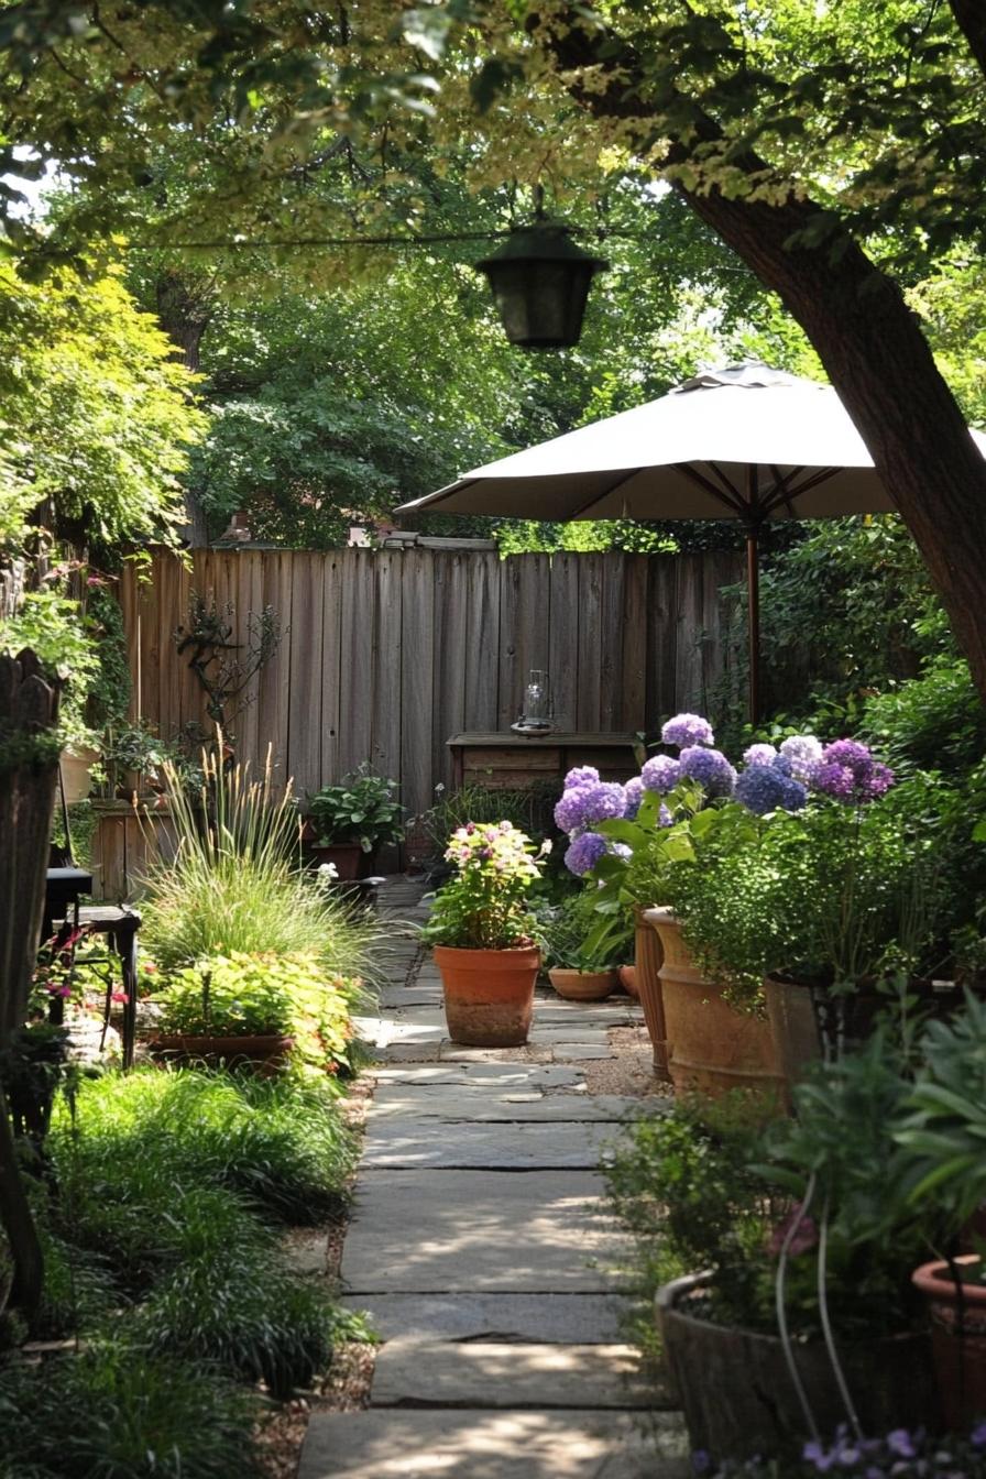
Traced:
[[625, 1241], [596, 1171], [364, 1171], [343, 1247], [350, 1294], [606, 1293]]

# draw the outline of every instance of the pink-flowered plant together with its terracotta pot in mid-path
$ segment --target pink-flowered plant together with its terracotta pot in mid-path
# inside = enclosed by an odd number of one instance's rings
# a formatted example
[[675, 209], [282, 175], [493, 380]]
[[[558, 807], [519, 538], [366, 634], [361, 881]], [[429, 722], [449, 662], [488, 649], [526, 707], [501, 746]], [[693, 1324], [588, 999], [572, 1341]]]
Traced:
[[541, 856], [513, 822], [467, 822], [445, 852], [455, 874], [421, 938], [442, 975], [449, 1037], [472, 1047], [526, 1043], [541, 967], [529, 893]]

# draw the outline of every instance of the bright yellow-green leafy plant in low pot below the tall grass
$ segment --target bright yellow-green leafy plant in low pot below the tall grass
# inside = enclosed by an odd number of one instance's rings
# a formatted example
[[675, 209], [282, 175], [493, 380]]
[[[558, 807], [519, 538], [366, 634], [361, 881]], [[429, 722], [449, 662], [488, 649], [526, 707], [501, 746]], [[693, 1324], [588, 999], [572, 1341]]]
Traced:
[[336, 1072], [347, 1062], [349, 1010], [359, 982], [327, 979], [315, 955], [204, 955], [155, 998], [161, 1031], [189, 1037], [293, 1037], [300, 1060]]

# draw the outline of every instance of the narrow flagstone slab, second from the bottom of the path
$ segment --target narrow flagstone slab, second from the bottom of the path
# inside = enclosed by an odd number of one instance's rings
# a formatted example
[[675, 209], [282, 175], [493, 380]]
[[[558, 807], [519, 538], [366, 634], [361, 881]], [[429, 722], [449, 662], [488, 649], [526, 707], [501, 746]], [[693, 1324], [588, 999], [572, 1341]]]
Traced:
[[384, 1346], [370, 1392], [371, 1407], [545, 1408], [668, 1407], [661, 1387], [640, 1374], [640, 1355], [624, 1344]]

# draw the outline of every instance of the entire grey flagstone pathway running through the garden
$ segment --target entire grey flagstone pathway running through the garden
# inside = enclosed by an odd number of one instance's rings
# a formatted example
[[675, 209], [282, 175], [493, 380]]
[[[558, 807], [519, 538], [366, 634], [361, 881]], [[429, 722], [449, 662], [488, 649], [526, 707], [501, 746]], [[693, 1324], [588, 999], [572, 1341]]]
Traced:
[[[421, 887], [386, 905], [421, 918]], [[441, 981], [395, 944], [346, 1302], [383, 1344], [371, 1405], [310, 1420], [299, 1479], [671, 1479], [686, 1442], [621, 1340], [618, 1229], [599, 1164], [637, 1099], [590, 1096], [628, 998], [540, 992], [526, 1049], [451, 1043]]]

